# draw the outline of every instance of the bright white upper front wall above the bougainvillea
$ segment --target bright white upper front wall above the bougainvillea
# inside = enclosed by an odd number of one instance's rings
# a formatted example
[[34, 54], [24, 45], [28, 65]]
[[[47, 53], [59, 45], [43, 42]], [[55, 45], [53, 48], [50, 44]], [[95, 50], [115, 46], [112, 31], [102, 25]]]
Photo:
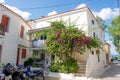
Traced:
[[73, 11], [69, 13], [62, 13], [58, 14], [56, 16], [48, 16], [47, 18], [42, 18], [35, 20], [36, 22], [36, 29], [37, 28], [44, 28], [44, 27], [49, 27], [51, 21], [57, 21], [57, 20], [64, 20], [64, 21], [71, 21], [76, 23], [76, 27], [79, 29], [83, 29], [83, 31], [86, 31], [88, 26], [87, 26], [87, 13], [86, 10], [78, 10], [78, 11]]

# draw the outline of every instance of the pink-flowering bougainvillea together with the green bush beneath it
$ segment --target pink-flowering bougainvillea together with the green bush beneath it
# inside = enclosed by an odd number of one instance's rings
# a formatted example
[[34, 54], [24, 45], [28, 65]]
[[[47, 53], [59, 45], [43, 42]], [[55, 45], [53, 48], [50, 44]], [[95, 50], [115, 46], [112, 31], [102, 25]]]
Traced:
[[86, 36], [81, 29], [75, 27], [75, 22], [71, 23], [70, 20], [51, 22], [51, 29], [38, 34], [43, 33], [47, 35], [47, 52], [61, 59], [55, 59], [55, 63], [51, 65], [50, 69], [54, 72], [76, 72], [78, 67], [73, 55], [82, 54], [86, 49], [98, 48], [101, 45], [99, 39]]

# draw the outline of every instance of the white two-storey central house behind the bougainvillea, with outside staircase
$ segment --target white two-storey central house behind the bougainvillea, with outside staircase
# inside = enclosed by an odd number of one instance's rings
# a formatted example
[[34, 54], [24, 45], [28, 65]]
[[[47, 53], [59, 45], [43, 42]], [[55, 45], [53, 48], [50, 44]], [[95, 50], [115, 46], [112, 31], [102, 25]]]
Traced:
[[[29, 31], [29, 34], [31, 37], [31, 40], [34, 40], [33, 37], [35, 36], [35, 32], [42, 30], [43, 28], [49, 28], [50, 27], [50, 21], [58, 21], [58, 20], [71, 20], [75, 21], [78, 29], [81, 29], [85, 32], [87, 36], [93, 36], [94, 38], [98, 37], [104, 44], [104, 32], [102, 28], [99, 27], [99, 24], [92, 14], [91, 10], [86, 6], [79, 9], [67, 11], [64, 13], [59, 13], [51, 16], [44, 16], [42, 18], [38, 18], [35, 20], [30, 20], [28, 23], [34, 25], [33, 30]], [[32, 26], [31, 25], [31, 26]], [[38, 41], [38, 40], [37, 40]], [[41, 45], [44, 45], [44, 40], [39, 39], [41, 41]], [[39, 43], [40, 44], [40, 43]], [[104, 45], [102, 44], [102, 47], [104, 48]], [[40, 49], [44, 49], [44, 47], [41, 47], [41, 45], [38, 45], [34, 43], [31, 47], [31, 50], [35, 51], [38, 50], [36, 53], [42, 53]], [[45, 54], [47, 55], [47, 54]], [[48, 58], [51, 58], [49, 56]], [[80, 69], [77, 76], [87, 76], [87, 77], [95, 77], [100, 75], [106, 66], [106, 56], [103, 49], [91, 49], [85, 52], [83, 55], [76, 55], [76, 59], [78, 60], [78, 63], [80, 65]]]

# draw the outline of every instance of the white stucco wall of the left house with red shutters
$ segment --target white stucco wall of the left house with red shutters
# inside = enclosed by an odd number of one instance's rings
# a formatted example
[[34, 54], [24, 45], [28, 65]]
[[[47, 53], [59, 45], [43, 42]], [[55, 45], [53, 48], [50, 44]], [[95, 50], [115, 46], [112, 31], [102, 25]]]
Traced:
[[[27, 49], [29, 49], [29, 37], [26, 33], [28, 30], [30, 30], [30, 27], [21, 17], [0, 5], [0, 22], [2, 19], [2, 15], [7, 15], [10, 20], [8, 25], [8, 32], [5, 32], [3, 38], [0, 38], [0, 44], [3, 46], [1, 62], [15, 63], [17, 59], [18, 45], [25, 46]], [[23, 39], [20, 38], [21, 25], [24, 26]]]

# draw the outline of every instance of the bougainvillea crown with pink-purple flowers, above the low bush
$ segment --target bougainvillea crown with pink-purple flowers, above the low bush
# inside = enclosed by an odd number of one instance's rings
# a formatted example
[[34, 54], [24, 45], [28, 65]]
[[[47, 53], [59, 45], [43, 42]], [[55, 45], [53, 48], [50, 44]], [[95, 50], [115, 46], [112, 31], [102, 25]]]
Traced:
[[66, 56], [69, 60], [74, 53], [84, 53], [86, 49], [99, 48], [100, 40], [86, 36], [75, 24], [65, 21], [50, 22], [51, 28], [40, 31], [38, 35], [47, 35], [46, 50], [51, 54]]

